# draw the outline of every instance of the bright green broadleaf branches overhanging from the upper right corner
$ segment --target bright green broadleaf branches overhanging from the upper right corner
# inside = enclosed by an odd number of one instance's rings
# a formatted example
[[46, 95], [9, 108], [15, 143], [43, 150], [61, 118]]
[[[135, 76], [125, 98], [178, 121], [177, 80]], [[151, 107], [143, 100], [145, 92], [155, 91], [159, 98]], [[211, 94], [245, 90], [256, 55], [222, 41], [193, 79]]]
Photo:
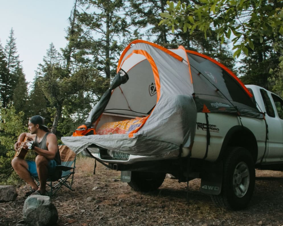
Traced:
[[206, 36], [214, 30], [222, 43], [232, 39], [235, 53], [248, 54], [254, 43], [263, 43], [268, 36], [283, 35], [282, 1], [257, 0], [200, 0], [190, 4], [168, 1], [160, 24], [166, 24], [174, 32], [180, 27], [184, 32], [198, 29]]

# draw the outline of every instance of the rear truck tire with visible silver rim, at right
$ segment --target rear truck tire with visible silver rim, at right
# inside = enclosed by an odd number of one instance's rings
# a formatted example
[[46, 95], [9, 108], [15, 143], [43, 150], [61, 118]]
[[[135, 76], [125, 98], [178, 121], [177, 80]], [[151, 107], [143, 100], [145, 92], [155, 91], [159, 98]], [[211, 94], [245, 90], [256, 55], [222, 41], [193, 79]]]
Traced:
[[242, 147], [229, 148], [224, 159], [222, 190], [211, 195], [212, 201], [233, 210], [247, 207], [255, 187], [255, 163], [251, 153]]

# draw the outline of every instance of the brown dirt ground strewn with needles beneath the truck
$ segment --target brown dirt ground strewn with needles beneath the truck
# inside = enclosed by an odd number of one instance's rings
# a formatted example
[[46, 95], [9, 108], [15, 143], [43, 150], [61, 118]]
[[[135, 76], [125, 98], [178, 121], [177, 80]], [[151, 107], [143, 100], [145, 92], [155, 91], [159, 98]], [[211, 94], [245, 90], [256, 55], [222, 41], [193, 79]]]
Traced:
[[[199, 191], [200, 180], [186, 183], [166, 178], [154, 193], [135, 192], [120, 181], [120, 172], [82, 158], [77, 161], [74, 191], [61, 188], [52, 203], [59, 214], [58, 226], [87, 225], [283, 225], [283, 172], [256, 171], [256, 186], [247, 209], [216, 207]], [[24, 192], [15, 201], [0, 203], [0, 225], [26, 226], [22, 218]]]

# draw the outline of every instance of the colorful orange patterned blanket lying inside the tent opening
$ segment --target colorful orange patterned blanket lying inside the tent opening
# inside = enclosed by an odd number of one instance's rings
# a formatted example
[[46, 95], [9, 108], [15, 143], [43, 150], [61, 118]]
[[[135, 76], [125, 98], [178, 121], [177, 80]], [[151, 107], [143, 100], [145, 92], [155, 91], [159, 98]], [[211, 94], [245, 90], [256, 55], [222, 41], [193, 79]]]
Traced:
[[140, 127], [145, 120], [144, 118], [136, 117], [135, 119], [124, 120], [119, 122], [104, 123], [96, 133], [99, 135], [106, 134], [129, 134], [136, 128]]

